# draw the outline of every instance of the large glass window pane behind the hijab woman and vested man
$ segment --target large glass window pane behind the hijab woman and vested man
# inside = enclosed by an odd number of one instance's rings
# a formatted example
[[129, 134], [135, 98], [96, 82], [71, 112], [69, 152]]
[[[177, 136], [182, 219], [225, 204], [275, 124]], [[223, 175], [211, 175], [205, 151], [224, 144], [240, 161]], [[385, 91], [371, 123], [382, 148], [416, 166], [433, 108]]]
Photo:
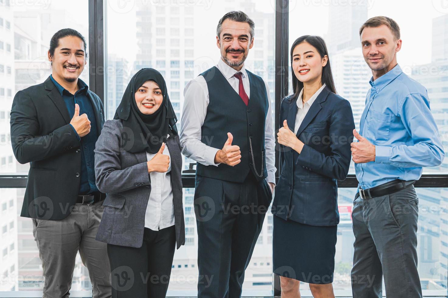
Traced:
[[[216, 47], [216, 26], [219, 19], [230, 10], [242, 10], [255, 22], [254, 47], [245, 62], [246, 68], [265, 81], [274, 82], [274, 9], [269, 1], [226, 0], [189, 5], [188, 2], [161, 1], [157, 6], [151, 2], [132, 1], [134, 5], [118, 8], [107, 7], [107, 60], [109, 68], [116, 61], [125, 61], [107, 77], [108, 118], [115, 114], [123, 92], [132, 75], [141, 68], [154, 67], [164, 74], [173, 107], [182, 121], [183, 90], [185, 84], [206, 69], [217, 64], [220, 50]], [[159, 25], [163, 24], [163, 27]], [[207, 24], [207, 26], [204, 26]], [[131, 33], [130, 33], [131, 32]], [[134, 34], [132, 32], [135, 32]], [[170, 47], [162, 47], [170, 55], [159, 52], [163, 32]], [[174, 47], [174, 48], [173, 48]], [[117, 83], [117, 77], [120, 83]], [[120, 86], [117, 86], [120, 85]], [[274, 90], [271, 88], [271, 100]], [[179, 127], [179, 126], [178, 126]], [[190, 162], [184, 158], [184, 168]], [[194, 190], [184, 190], [186, 244], [176, 251], [170, 281], [170, 290], [197, 290], [197, 231], [193, 208]], [[258, 239], [249, 268], [246, 271], [244, 289], [272, 290], [271, 237], [272, 215], [266, 217], [263, 231]], [[171, 292], [170, 292], [171, 293]]]

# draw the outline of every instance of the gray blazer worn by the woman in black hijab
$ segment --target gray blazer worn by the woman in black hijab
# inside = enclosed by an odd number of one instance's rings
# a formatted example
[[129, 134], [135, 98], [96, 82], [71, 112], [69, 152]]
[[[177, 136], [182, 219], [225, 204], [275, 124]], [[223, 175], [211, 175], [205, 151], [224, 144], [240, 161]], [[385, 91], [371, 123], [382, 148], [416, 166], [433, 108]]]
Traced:
[[[120, 145], [122, 133], [121, 120], [108, 120], [95, 145], [96, 186], [107, 193], [95, 239], [109, 244], [141, 247], [151, 178], [146, 165], [146, 151], [136, 154], [125, 151]], [[171, 186], [179, 248], [185, 244], [179, 137], [170, 136], [166, 146], [171, 156]]]

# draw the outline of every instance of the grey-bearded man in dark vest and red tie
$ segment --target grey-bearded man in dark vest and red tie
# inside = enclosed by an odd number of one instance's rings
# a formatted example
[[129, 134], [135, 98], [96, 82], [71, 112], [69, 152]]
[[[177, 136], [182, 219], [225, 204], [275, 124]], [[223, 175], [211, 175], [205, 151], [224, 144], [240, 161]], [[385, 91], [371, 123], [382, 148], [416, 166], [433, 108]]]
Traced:
[[216, 35], [221, 59], [185, 86], [180, 134], [182, 153], [198, 162], [198, 298], [241, 297], [275, 186], [268, 86], [244, 67], [254, 22], [226, 13]]

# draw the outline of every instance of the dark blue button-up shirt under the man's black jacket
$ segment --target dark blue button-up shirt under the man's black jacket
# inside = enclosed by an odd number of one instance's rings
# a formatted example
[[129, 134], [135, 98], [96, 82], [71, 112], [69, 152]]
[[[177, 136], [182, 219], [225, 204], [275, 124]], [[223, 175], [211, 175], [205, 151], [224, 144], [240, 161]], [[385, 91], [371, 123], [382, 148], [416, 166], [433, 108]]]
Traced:
[[[73, 117], [75, 113], [75, 104], [79, 105], [79, 115], [87, 114], [90, 120], [90, 132], [83, 136], [78, 137], [78, 141], [81, 145], [81, 183], [79, 185], [79, 194], [90, 194], [94, 191], [98, 191], [95, 185], [95, 143], [98, 139], [97, 123], [95, 120], [95, 112], [93, 110], [92, 103], [90, 102], [87, 91], [89, 87], [85, 82], [82, 82], [78, 78], [79, 90], [75, 94], [71, 94], [63, 86], [61, 86], [56, 80], [50, 75], [51, 80], [58, 89], [62, 99], [64, 99], [67, 110], [69, 111], [69, 116]], [[73, 126], [72, 126], [73, 127]], [[73, 128], [74, 130], [74, 128]], [[76, 131], [75, 131], [76, 133]]]

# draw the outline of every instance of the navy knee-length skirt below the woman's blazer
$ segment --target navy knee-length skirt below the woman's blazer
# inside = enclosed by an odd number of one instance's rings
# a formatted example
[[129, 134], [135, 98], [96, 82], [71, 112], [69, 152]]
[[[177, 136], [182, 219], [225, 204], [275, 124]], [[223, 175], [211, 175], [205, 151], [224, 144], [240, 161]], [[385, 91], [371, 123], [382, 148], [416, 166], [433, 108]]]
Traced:
[[274, 215], [274, 273], [310, 284], [332, 283], [336, 239], [337, 225], [305, 225]]

